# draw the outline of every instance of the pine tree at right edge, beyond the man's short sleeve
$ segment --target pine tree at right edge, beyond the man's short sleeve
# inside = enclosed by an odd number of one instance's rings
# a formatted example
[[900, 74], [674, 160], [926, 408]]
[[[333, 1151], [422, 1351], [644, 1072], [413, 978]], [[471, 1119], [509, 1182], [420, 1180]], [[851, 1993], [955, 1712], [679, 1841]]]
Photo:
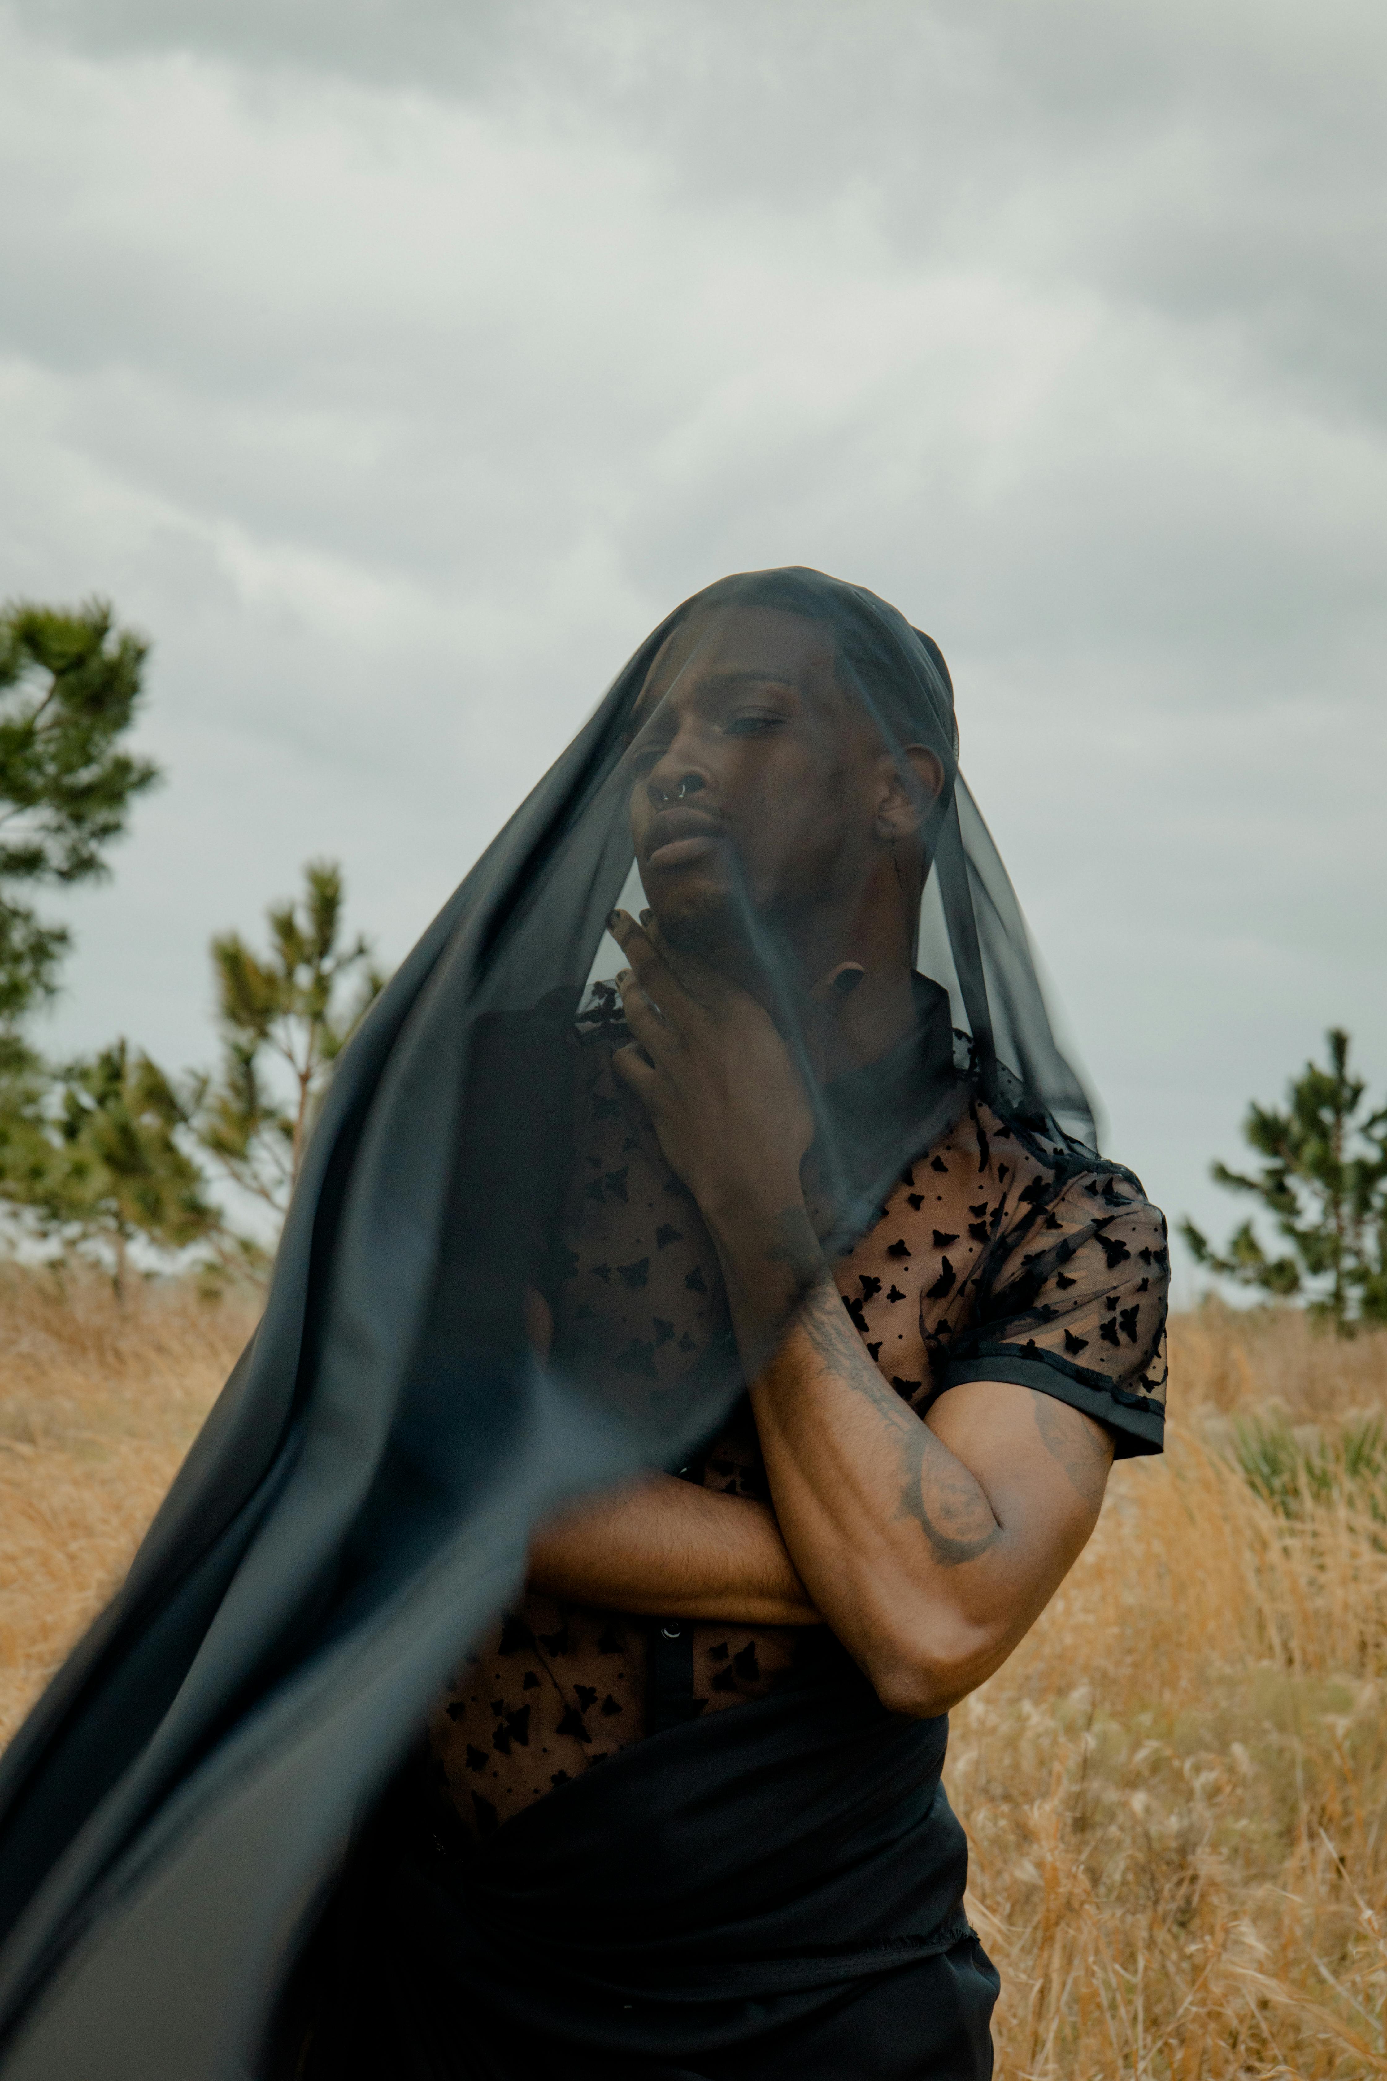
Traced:
[[1289, 1251], [1268, 1255], [1252, 1219], [1223, 1253], [1194, 1222], [1181, 1222], [1181, 1234], [1196, 1263], [1275, 1299], [1304, 1294], [1345, 1336], [1387, 1321], [1387, 1107], [1364, 1111], [1368, 1086], [1350, 1074], [1350, 1036], [1333, 1028], [1327, 1043], [1329, 1065], [1306, 1063], [1287, 1111], [1248, 1107], [1244, 1140], [1262, 1157], [1260, 1172], [1210, 1172], [1258, 1199]]

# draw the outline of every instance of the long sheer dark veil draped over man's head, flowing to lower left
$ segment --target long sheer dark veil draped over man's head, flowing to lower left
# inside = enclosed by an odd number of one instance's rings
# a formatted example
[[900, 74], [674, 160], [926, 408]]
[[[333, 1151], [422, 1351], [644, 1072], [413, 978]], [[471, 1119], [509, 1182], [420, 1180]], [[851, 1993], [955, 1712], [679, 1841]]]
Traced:
[[[740, 1390], [730, 1338], [657, 1386], [599, 1342], [541, 1359], [526, 1290], [566, 1190], [568, 1040], [582, 1016], [616, 1016], [593, 988], [618, 966], [605, 920], [640, 905], [636, 703], [676, 631], [697, 656], [707, 610], [744, 606], [828, 628], [838, 685], [884, 745], [923, 745], [944, 774], [923, 826], [917, 968], [948, 993], [952, 1047], [888, 1140], [867, 1136], [867, 1159], [811, 1090], [836, 1232], [861, 1232], [884, 1180], [969, 1090], [1058, 1145], [1094, 1140], [959, 774], [932, 639], [811, 570], [728, 579], [678, 608], [343, 1053], [264, 1319], [125, 1586], [0, 1767], [6, 2081], [260, 2071], [277, 1989], [354, 1827], [520, 1584], [528, 1527], [674, 1465]], [[803, 978], [771, 928], [751, 918], [749, 932], [803, 1055]]]

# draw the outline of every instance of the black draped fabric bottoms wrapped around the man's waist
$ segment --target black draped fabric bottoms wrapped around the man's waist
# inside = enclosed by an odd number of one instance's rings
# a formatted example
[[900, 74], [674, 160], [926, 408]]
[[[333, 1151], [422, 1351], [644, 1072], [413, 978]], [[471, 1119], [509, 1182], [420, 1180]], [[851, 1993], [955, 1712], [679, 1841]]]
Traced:
[[[857, 1671], [638, 1742], [485, 1844], [401, 1781], [262, 2071], [302, 2081], [986, 2081], [946, 1727]], [[308, 2044], [306, 2044], [308, 2035]]]

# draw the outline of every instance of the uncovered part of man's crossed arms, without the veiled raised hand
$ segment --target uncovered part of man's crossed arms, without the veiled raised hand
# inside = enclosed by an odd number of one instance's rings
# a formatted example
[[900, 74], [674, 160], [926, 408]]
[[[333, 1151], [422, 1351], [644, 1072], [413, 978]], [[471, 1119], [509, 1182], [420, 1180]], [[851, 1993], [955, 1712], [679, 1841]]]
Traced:
[[774, 1509], [653, 1475], [543, 1527], [534, 1588], [688, 1619], [823, 1619], [884, 1704], [927, 1717], [1000, 1667], [1098, 1521], [1102, 1425], [988, 1380], [921, 1421], [836, 1288], [805, 1299], [753, 1407]]

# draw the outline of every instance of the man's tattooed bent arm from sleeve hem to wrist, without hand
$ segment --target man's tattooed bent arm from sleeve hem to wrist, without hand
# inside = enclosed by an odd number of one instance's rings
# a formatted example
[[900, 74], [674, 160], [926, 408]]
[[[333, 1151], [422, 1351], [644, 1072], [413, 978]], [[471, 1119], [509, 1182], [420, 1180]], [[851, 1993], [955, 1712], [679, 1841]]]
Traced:
[[1081, 1552], [1113, 1442], [1011, 1382], [952, 1388], [921, 1423], [871, 1363], [803, 1207], [765, 1219], [742, 1203], [717, 1242], [744, 1355], [776, 1344], [753, 1409], [788, 1552], [882, 1700], [946, 1713]]

